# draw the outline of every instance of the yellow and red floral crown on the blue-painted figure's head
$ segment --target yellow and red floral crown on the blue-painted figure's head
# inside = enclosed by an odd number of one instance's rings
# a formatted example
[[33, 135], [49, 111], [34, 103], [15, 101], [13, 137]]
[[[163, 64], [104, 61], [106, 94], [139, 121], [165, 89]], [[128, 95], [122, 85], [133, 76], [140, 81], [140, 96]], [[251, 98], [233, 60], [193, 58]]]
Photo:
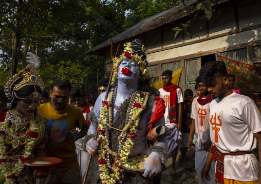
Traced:
[[[137, 44], [138, 47], [140, 47], [140, 50], [133, 50], [132, 48], [132, 44]], [[141, 71], [141, 78], [140, 80], [145, 80], [146, 78], [148, 78], [148, 67], [147, 67], [147, 63], [146, 63], [146, 59], [142, 60], [142, 56], [139, 56], [137, 54], [138, 51], [142, 51], [143, 53], [145, 53], [145, 47], [144, 45], [139, 44], [136, 40], [133, 41], [133, 43], [127, 42], [125, 43], [124, 46], [124, 53], [122, 53], [120, 55], [120, 57], [115, 57], [113, 58], [113, 64], [114, 64], [114, 71], [113, 71], [113, 77], [111, 78], [111, 85], [113, 85], [115, 83], [115, 81], [118, 78], [118, 68], [121, 64], [122, 59], [124, 59], [125, 57], [130, 57], [133, 60], [135, 60], [135, 62], [137, 62], [137, 64], [140, 67], [140, 71]], [[133, 44], [133, 46], [135, 46]]]

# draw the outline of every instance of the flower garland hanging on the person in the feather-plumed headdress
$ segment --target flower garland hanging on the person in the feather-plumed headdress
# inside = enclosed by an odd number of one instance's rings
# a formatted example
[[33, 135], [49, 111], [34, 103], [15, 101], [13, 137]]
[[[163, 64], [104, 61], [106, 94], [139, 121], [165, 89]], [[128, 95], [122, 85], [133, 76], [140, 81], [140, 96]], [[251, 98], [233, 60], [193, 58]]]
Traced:
[[[8, 124], [9, 121], [1, 122], [0, 132], [5, 132], [5, 127]], [[15, 183], [17, 176], [24, 169], [25, 165], [23, 164], [23, 162], [32, 155], [32, 149], [35, 144], [36, 138], [38, 137], [37, 132], [39, 132], [39, 124], [36, 123], [34, 119], [30, 121], [30, 124], [30, 134], [28, 134], [27, 143], [24, 146], [24, 150], [21, 156], [19, 156], [18, 162], [13, 167], [12, 165], [9, 165], [8, 161], [5, 161], [8, 158], [6, 151], [5, 134], [0, 134], [0, 158], [2, 158], [2, 162], [0, 162], [0, 170], [5, 176], [7, 184]]]

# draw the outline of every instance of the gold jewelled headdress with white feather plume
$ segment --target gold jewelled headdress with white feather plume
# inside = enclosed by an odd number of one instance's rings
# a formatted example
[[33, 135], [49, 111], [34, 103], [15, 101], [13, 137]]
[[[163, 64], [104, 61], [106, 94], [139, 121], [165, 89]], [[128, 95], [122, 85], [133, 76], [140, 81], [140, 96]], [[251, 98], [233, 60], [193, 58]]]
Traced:
[[[9, 78], [9, 80], [7, 81], [7, 84], [5, 86], [5, 95], [8, 99], [11, 99], [11, 103], [7, 104], [7, 108], [12, 107], [14, 96], [19, 99], [25, 99], [30, 97], [31, 95], [35, 97], [40, 95], [36, 91], [35, 86], [39, 86], [41, 90], [44, 89], [43, 80], [40, 78], [39, 72], [36, 70], [36, 68], [40, 66], [39, 58], [35, 57], [35, 55], [31, 52], [28, 52], [26, 56], [26, 62], [29, 63], [29, 65], [27, 65], [25, 69], [20, 70], [17, 74], [13, 75], [13, 77]], [[23, 80], [18, 84], [14, 84], [15, 81], [20, 78], [23, 78]], [[29, 94], [26, 97], [20, 97], [16, 94], [17, 90], [20, 90], [21, 88], [29, 85], [34, 86], [35, 91], [33, 93]]]

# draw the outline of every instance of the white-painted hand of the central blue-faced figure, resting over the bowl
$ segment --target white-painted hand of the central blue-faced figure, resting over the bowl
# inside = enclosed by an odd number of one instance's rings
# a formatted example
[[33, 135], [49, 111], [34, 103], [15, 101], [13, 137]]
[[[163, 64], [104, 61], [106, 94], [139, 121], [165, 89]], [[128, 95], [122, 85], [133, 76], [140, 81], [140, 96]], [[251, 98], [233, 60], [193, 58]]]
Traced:
[[161, 172], [161, 159], [157, 152], [152, 152], [147, 157], [143, 169], [145, 169], [144, 177], [154, 177]]

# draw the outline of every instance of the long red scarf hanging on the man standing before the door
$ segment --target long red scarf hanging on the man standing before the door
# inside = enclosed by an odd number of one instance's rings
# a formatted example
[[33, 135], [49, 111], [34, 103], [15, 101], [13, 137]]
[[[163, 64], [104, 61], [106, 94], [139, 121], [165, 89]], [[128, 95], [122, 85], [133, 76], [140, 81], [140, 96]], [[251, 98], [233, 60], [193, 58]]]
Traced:
[[[171, 84], [170, 86], [165, 86], [163, 85], [163, 90], [166, 92], [170, 92], [170, 112], [169, 112], [169, 118], [170, 118], [170, 123], [178, 123], [178, 101], [177, 101], [177, 90], [178, 87], [177, 85]], [[180, 88], [181, 90], [181, 88]], [[182, 93], [182, 90], [181, 90]]]

